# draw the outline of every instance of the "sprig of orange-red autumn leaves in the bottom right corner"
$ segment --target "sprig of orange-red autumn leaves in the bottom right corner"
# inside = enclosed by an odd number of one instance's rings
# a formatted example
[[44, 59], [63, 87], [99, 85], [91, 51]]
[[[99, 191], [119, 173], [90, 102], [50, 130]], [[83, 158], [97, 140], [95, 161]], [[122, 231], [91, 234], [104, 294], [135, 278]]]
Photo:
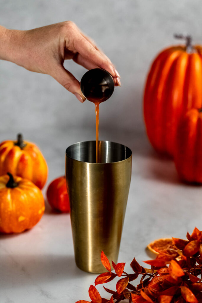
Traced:
[[[116, 291], [105, 288], [111, 294], [110, 299], [101, 298], [94, 285], [89, 288], [91, 302], [80, 300], [76, 303], [118, 303], [128, 299], [134, 303], [200, 303], [202, 302], [202, 231], [194, 228], [187, 240], [173, 238], [174, 248], [165, 249], [155, 260], [144, 261], [151, 269], [142, 267], [135, 258], [131, 262], [134, 273], [124, 271], [125, 263], [112, 266], [101, 252], [101, 261], [107, 272], [95, 279], [95, 286], [107, 283], [115, 277], [122, 277], [116, 284]], [[130, 282], [141, 276], [135, 287]]]

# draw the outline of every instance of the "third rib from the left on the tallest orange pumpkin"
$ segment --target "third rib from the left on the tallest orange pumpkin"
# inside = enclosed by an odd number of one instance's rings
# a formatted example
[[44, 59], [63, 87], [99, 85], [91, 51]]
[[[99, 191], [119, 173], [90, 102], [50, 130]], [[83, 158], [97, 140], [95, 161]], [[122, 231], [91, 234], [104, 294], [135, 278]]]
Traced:
[[184, 78], [187, 68], [186, 52], [181, 52], [174, 60], [165, 83], [164, 97], [162, 100], [163, 111], [161, 113], [161, 146], [164, 151], [174, 155], [175, 137], [177, 125], [181, 115], [183, 104]]

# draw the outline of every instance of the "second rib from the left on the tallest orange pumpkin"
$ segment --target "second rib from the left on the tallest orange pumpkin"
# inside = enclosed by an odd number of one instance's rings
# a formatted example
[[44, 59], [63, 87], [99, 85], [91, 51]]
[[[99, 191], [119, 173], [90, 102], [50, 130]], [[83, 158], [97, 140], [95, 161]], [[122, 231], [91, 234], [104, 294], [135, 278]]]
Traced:
[[164, 104], [162, 102], [162, 96], [165, 93], [165, 83], [167, 82], [167, 77], [169, 75], [171, 66], [179, 54], [179, 50], [176, 52], [172, 51], [169, 56], [166, 54], [165, 58], [163, 58], [161, 61], [160, 70], [157, 75], [156, 83], [154, 85], [153, 91], [150, 94], [150, 100], [152, 102], [152, 107], [150, 109], [150, 136], [151, 142], [159, 151], [162, 151], [161, 138], [162, 132], [165, 132], [165, 130], [162, 129], [162, 119], [164, 119], [165, 110]]

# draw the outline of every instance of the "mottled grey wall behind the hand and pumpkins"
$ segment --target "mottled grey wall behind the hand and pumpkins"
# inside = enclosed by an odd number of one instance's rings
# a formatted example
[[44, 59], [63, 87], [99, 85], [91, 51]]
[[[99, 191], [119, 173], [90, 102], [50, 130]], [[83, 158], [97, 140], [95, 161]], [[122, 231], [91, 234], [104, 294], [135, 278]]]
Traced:
[[[74, 21], [111, 58], [121, 75], [121, 88], [100, 107], [100, 128], [142, 130], [142, 95], [154, 56], [177, 43], [173, 33], [189, 32], [202, 43], [200, 0], [0, 0], [0, 23], [31, 29]], [[79, 80], [85, 72], [66, 62]], [[0, 130], [54, 127], [94, 128], [94, 105], [81, 104], [48, 75], [0, 62]], [[107, 139], [107, 138], [105, 138]]]

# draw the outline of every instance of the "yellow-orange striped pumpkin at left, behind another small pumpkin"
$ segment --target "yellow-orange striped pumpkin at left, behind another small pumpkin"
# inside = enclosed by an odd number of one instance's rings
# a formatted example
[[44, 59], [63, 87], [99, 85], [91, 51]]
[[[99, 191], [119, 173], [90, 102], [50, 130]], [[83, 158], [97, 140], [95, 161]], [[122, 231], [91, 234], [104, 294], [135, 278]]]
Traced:
[[48, 166], [39, 148], [31, 142], [7, 140], [0, 144], [0, 176], [9, 171], [12, 175], [28, 179], [40, 189], [45, 185]]

